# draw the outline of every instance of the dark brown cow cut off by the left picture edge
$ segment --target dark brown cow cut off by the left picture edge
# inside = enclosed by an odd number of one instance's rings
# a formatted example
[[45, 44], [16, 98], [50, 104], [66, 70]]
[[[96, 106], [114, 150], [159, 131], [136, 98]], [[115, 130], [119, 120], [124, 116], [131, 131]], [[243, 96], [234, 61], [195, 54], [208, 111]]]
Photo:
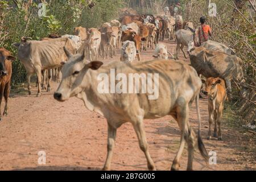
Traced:
[[15, 57], [11, 55], [11, 52], [3, 47], [0, 47], [0, 121], [2, 120], [1, 103], [3, 97], [5, 97], [5, 110], [3, 115], [8, 114], [8, 98], [11, 89], [11, 61], [14, 61]]

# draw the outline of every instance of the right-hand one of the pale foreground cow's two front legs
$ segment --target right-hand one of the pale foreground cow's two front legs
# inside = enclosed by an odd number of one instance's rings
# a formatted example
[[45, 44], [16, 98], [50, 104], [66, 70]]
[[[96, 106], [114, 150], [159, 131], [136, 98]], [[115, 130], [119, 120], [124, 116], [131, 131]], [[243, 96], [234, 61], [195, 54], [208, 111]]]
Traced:
[[150, 153], [148, 151], [147, 147], [147, 139], [146, 139], [146, 134], [143, 128], [143, 119], [142, 121], [137, 121], [133, 123], [133, 127], [135, 130], [135, 133], [137, 134], [138, 140], [139, 140], [139, 147], [141, 150], [144, 152], [144, 155], [146, 156], [147, 159], [147, 167], [151, 171], [155, 171], [155, 164], [153, 160], [151, 159]]

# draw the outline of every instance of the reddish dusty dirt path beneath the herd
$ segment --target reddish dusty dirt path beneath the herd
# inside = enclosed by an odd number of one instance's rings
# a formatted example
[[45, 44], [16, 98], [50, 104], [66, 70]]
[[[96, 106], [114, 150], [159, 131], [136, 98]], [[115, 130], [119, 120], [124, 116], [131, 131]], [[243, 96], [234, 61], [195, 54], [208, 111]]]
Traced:
[[[174, 43], [166, 42], [174, 53]], [[182, 58], [183, 56], [180, 55]], [[142, 52], [143, 60], [152, 58], [152, 51]], [[114, 57], [119, 60], [119, 57]], [[60, 103], [53, 100], [54, 83], [50, 93], [42, 97], [12, 94], [9, 116], [0, 122], [0, 169], [90, 170], [101, 169], [106, 157], [106, 119], [85, 109], [77, 98]], [[2, 104], [3, 107], [3, 104]], [[195, 170], [256, 169], [255, 140], [234, 130], [224, 122], [223, 139], [206, 140], [208, 126], [207, 100], [200, 101], [203, 139], [208, 151], [217, 153], [217, 164], [206, 166], [199, 150], [195, 152]], [[190, 122], [197, 130], [195, 106]], [[177, 152], [180, 131], [171, 117], [146, 120], [145, 130], [150, 154], [158, 170], [169, 170]], [[38, 152], [46, 152], [46, 165], [38, 164]], [[181, 169], [187, 167], [184, 150]], [[146, 159], [130, 124], [117, 131], [112, 169], [146, 170]]]

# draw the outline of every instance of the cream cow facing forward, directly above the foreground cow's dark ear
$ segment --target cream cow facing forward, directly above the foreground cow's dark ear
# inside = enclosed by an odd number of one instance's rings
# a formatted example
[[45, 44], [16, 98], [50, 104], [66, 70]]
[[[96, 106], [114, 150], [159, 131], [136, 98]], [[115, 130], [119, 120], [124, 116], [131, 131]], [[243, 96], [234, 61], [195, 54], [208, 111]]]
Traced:
[[97, 60], [98, 59], [98, 50], [101, 45], [101, 32], [94, 29], [91, 29], [88, 39], [88, 48], [89, 48], [89, 59]]

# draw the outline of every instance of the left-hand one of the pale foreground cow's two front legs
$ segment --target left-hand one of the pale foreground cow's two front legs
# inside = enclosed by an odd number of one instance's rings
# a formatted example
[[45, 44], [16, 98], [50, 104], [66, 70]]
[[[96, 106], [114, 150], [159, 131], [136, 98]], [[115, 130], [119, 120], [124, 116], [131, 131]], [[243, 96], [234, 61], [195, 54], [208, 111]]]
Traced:
[[110, 170], [116, 135], [117, 135], [117, 129], [115, 129], [108, 123], [108, 154], [107, 154], [106, 162], [103, 168], [103, 170], [105, 171]]

